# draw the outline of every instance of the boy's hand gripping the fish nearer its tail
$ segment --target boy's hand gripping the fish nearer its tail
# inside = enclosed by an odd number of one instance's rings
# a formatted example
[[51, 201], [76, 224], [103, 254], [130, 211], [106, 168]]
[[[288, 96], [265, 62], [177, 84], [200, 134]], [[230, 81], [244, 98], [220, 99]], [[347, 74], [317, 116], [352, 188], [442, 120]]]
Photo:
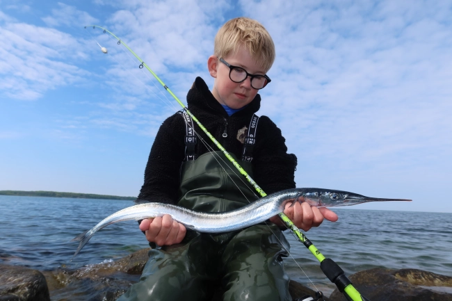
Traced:
[[174, 245], [180, 243], [186, 234], [184, 225], [171, 218], [171, 215], [163, 215], [161, 218], [149, 218], [142, 220], [140, 230], [145, 231], [146, 239], [157, 245]]

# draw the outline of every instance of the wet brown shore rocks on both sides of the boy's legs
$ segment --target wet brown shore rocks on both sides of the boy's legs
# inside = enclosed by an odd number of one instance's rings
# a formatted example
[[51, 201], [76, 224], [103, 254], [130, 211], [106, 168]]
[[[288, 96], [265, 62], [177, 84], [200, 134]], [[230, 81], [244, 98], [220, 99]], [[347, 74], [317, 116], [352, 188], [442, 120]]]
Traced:
[[[99, 263], [78, 270], [33, 270], [0, 264], [0, 301], [104, 300], [114, 301], [138, 281], [147, 261], [147, 251], [139, 250], [118, 261]], [[376, 268], [349, 276], [353, 286], [372, 301], [452, 301], [452, 277], [423, 270]], [[83, 288], [90, 287], [90, 291]], [[291, 282], [294, 298], [315, 295], [312, 289]], [[221, 300], [222, 291], [212, 301]], [[346, 300], [334, 291], [326, 300]]]

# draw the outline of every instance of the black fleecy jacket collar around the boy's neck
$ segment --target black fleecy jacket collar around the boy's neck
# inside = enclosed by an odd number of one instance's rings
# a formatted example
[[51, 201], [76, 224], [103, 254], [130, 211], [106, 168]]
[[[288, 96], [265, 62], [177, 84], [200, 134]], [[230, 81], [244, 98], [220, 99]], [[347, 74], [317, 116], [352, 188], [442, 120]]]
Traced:
[[[209, 90], [209, 87], [207, 87], [207, 84], [199, 76], [195, 79], [195, 83], [193, 83], [193, 86], [188, 91], [187, 104], [188, 110], [192, 110], [194, 107], [201, 110], [216, 112], [225, 117], [228, 116], [223, 106], [221, 106], [216, 98], [213, 97], [212, 92]], [[257, 111], [259, 111], [260, 107], [261, 96], [257, 94], [255, 99], [252, 99], [248, 106], [243, 108], [243, 110], [235, 113], [234, 115], [256, 113]]]

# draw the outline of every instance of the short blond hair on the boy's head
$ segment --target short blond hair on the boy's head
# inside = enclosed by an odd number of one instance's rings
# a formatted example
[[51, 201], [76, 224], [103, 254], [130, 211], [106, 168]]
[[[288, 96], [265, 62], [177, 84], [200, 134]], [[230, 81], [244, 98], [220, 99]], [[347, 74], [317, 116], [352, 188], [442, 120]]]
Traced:
[[275, 44], [262, 24], [247, 17], [231, 19], [221, 26], [215, 36], [213, 53], [225, 58], [242, 45], [259, 67], [270, 70], [275, 60]]

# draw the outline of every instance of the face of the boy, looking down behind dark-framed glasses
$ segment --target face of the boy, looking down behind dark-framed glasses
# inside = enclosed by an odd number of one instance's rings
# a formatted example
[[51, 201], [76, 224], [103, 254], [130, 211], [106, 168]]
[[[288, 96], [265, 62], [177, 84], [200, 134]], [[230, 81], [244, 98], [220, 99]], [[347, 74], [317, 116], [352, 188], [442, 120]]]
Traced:
[[[229, 63], [229, 65], [242, 67], [250, 74], [264, 75], [267, 71], [257, 65], [255, 60], [250, 56], [250, 53], [243, 46], [239, 47], [235, 54], [229, 54], [223, 60]], [[241, 83], [234, 83], [229, 78], [229, 67], [220, 62], [216, 56], [210, 56], [207, 65], [211, 76], [215, 78], [212, 94], [220, 104], [237, 109], [243, 108], [252, 99], [255, 99], [257, 90], [251, 87], [250, 76]]]

